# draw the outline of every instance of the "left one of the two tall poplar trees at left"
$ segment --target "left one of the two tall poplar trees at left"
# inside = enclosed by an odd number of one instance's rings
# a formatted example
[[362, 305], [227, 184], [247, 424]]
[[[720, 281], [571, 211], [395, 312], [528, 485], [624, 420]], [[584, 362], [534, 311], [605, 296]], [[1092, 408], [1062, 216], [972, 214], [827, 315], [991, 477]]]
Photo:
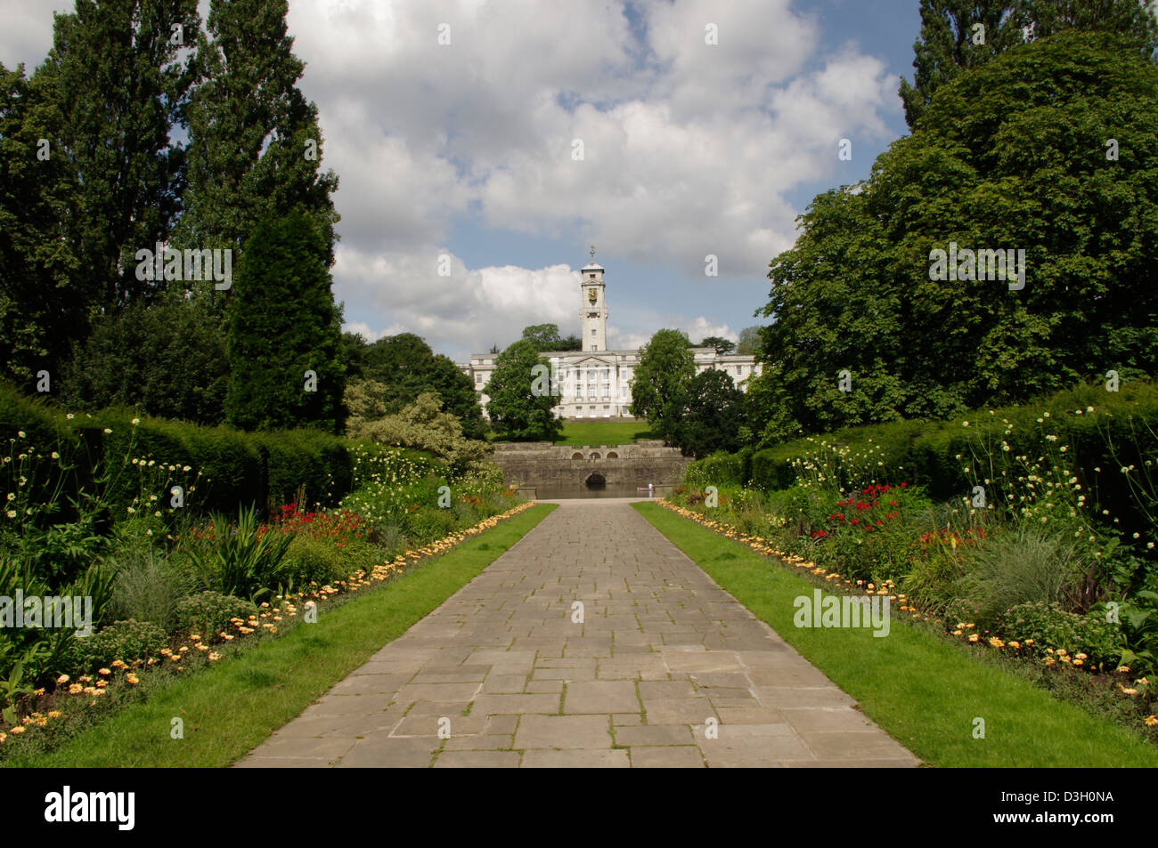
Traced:
[[199, 21], [197, 0], [76, 0], [54, 17], [34, 84], [53, 101], [46, 138], [75, 191], [63, 226], [94, 309], [157, 293], [133, 257], [168, 238], [181, 208], [185, 152], [173, 135]]

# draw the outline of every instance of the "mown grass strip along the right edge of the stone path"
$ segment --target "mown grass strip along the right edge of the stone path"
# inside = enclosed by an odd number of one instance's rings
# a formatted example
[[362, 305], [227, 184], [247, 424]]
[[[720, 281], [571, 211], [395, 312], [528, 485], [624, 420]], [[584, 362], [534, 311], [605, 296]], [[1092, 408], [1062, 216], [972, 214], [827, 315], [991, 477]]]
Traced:
[[[798, 628], [793, 600], [811, 598], [812, 583], [658, 504], [632, 507], [930, 765], [1158, 766], [1158, 751], [1141, 736], [907, 621], [894, 619], [885, 637], [867, 628]], [[974, 738], [975, 718], [984, 720], [984, 738]]]

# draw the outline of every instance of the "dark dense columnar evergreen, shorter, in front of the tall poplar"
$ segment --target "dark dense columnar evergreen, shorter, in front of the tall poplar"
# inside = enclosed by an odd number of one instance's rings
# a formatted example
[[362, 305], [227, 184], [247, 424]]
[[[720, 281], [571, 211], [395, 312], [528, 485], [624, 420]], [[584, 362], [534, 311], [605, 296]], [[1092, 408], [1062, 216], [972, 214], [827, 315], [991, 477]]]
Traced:
[[232, 425], [342, 432], [342, 316], [327, 250], [301, 213], [266, 220], [250, 234], [229, 307], [225, 405]]

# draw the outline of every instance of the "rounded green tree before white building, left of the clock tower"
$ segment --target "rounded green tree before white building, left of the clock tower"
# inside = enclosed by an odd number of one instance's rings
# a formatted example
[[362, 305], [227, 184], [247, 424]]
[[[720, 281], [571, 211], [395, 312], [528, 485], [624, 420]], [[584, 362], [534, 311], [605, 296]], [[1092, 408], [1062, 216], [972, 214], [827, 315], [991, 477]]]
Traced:
[[[543, 376], [535, 367], [542, 366]], [[551, 382], [550, 363], [526, 339], [498, 355], [486, 384], [486, 413], [500, 438], [554, 441], [562, 429], [552, 410], [559, 388]], [[541, 385], [536, 386], [536, 379]]]

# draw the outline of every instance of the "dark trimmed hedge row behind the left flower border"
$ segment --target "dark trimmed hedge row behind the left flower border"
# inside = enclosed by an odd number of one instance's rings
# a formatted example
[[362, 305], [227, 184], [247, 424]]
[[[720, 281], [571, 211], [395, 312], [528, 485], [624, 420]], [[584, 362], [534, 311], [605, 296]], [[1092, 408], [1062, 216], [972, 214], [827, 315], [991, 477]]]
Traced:
[[[131, 423], [134, 418], [140, 419], [135, 426]], [[41, 451], [63, 455], [60, 463], [46, 457], [38, 463], [37, 487], [45, 494], [59, 480], [61, 465], [69, 475], [65, 491], [75, 493], [89, 489], [95, 469], [124, 467], [133, 457], [200, 471], [196, 497], [185, 504], [199, 515], [212, 510], [234, 513], [248, 504], [265, 509], [270, 503], [286, 503], [294, 500], [301, 486], [310, 503], [332, 506], [350, 493], [353, 484], [356, 443], [340, 436], [309, 429], [245, 433], [145, 418], [132, 410], [81, 413], [69, 420], [39, 399], [0, 384], [0, 433], [14, 437], [21, 430], [24, 441]], [[425, 454], [405, 452], [423, 463], [432, 462]], [[110, 502], [131, 503], [135, 485], [131, 474], [122, 474], [107, 492]], [[168, 501], [168, 492], [156, 494]]]

